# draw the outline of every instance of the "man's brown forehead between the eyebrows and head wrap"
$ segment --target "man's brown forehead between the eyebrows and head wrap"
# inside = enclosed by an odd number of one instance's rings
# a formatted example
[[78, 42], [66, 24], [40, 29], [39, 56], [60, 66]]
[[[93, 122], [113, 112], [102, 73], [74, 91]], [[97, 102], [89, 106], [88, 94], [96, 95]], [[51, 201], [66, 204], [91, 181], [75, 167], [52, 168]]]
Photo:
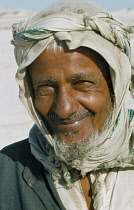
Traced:
[[51, 55], [53, 55], [51, 48], [44, 50], [41, 57], [39, 56], [39, 62], [33, 62], [30, 65], [34, 84], [42, 82], [56, 83], [61, 79], [61, 74], [64, 74], [64, 78], [68, 82], [87, 78], [93, 81], [98, 80], [105, 62], [98, 53], [84, 47], [68, 52], [62, 50], [62, 52], [54, 54], [52, 57]]

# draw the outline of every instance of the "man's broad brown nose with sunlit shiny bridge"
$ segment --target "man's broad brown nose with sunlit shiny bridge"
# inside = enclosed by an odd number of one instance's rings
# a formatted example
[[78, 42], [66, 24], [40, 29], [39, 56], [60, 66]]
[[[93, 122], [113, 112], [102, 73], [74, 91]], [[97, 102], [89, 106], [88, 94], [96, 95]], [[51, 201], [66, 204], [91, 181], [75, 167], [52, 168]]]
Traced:
[[78, 107], [79, 103], [73, 91], [63, 88], [59, 90], [55, 97], [52, 111], [55, 112], [59, 118], [66, 119], [71, 114], [78, 111]]

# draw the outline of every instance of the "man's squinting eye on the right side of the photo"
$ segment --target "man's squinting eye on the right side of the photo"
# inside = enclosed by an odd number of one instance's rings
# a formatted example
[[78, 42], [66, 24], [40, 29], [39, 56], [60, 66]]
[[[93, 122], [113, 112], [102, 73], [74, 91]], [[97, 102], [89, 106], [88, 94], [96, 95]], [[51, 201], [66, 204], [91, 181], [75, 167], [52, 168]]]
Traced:
[[73, 84], [73, 87], [78, 91], [86, 92], [89, 91], [91, 87], [93, 87], [93, 85], [94, 85], [93, 81], [79, 80]]

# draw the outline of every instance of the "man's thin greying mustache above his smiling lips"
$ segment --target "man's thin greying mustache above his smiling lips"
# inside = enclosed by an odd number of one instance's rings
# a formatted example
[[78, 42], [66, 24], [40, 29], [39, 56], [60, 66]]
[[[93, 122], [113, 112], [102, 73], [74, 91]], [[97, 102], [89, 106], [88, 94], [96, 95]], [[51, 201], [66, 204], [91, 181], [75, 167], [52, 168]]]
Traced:
[[74, 121], [79, 121], [87, 116], [91, 116], [93, 117], [95, 115], [95, 113], [91, 110], [84, 110], [81, 112], [74, 112], [73, 114], [71, 114], [70, 116], [68, 116], [67, 118], [61, 118], [57, 113], [55, 112], [49, 112], [48, 113], [48, 118], [51, 121], [55, 121], [55, 122], [59, 122], [59, 123], [68, 123], [68, 122], [74, 122]]

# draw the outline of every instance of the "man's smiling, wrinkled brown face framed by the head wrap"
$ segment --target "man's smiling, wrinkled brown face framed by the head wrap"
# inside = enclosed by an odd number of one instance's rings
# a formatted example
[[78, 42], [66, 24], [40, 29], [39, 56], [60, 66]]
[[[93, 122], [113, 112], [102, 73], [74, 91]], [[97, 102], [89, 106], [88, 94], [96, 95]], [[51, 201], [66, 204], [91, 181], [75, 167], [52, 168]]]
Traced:
[[30, 65], [35, 107], [61, 142], [85, 142], [101, 131], [111, 104], [102, 62], [84, 47], [55, 53], [50, 47]]

